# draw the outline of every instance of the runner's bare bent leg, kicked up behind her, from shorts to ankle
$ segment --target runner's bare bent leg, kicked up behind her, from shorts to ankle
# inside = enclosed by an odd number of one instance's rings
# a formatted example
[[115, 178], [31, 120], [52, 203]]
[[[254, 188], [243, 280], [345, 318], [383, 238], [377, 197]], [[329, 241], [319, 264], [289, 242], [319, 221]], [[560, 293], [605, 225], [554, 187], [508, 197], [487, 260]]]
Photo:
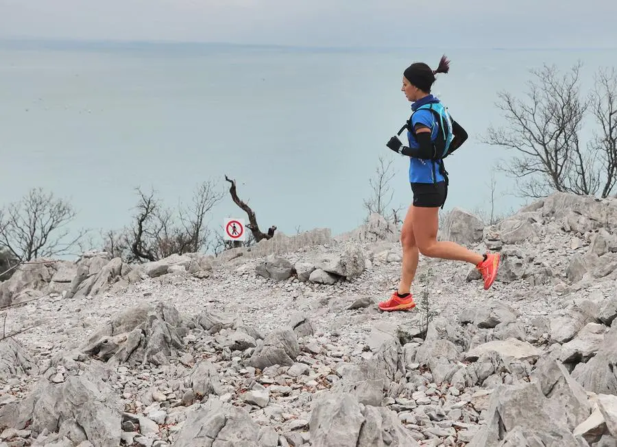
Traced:
[[[437, 241], [439, 208], [414, 206], [411, 213], [413, 236], [420, 253], [431, 258], [466, 261], [478, 265], [484, 256], [450, 241]], [[407, 219], [407, 218], [406, 218]]]

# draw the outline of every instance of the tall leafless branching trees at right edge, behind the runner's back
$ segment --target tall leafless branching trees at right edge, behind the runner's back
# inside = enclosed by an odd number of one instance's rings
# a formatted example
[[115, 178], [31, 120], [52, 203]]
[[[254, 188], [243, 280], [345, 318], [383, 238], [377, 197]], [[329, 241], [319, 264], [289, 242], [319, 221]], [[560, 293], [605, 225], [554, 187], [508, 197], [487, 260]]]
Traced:
[[[583, 97], [579, 82], [581, 63], [559, 75], [555, 66], [531, 70], [527, 100], [499, 93], [497, 107], [507, 128], [490, 127], [485, 143], [514, 149], [518, 156], [498, 169], [516, 178], [522, 197], [544, 197], [551, 191], [606, 197], [615, 182], [614, 71], [603, 71], [595, 101]], [[588, 109], [605, 124], [596, 145], [581, 143], [579, 132]], [[612, 117], [612, 118], [611, 118]], [[599, 156], [604, 154], [605, 156]]]

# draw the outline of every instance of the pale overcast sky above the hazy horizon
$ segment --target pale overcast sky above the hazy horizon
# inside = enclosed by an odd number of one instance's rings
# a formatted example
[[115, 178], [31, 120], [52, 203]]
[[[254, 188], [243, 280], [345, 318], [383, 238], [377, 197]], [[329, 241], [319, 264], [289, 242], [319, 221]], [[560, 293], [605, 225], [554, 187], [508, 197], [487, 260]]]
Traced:
[[610, 0], [0, 0], [0, 38], [614, 48]]

